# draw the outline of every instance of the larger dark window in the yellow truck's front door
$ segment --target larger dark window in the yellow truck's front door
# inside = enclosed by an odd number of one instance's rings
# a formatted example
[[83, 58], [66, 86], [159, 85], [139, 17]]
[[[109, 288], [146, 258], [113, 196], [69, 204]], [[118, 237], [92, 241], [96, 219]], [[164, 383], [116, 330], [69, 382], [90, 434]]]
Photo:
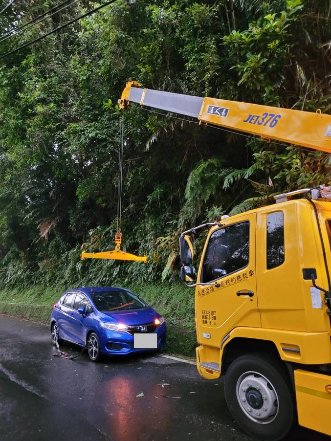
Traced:
[[244, 268], [249, 262], [249, 221], [214, 231], [202, 267], [204, 283]]

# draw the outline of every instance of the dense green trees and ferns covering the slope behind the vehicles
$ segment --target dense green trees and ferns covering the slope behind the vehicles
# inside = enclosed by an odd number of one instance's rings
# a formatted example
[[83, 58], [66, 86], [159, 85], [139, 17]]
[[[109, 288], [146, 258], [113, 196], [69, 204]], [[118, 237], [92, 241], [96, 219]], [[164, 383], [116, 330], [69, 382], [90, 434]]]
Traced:
[[[16, 0], [0, 16], [2, 34], [55, 4]], [[0, 40], [0, 54], [96, 4], [75, 3]], [[117, 0], [1, 58], [0, 289], [49, 304], [59, 291], [49, 287], [138, 285], [174, 320], [192, 314], [191, 291], [176, 285], [179, 233], [330, 182], [329, 155], [131, 107], [122, 227], [126, 249], [148, 264], [81, 262], [82, 249], [113, 248], [121, 91], [132, 78], [328, 112], [328, 14], [327, 0]]]

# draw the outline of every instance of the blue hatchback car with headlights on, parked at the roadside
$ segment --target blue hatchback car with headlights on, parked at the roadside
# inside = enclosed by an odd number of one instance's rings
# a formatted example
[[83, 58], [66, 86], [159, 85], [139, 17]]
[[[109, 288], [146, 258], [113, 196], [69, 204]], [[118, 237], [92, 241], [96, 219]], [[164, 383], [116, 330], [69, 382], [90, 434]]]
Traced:
[[[98, 361], [101, 354], [162, 349], [167, 335], [160, 314], [132, 291], [118, 287], [66, 291], [53, 306], [50, 328], [54, 344], [66, 340], [86, 346], [92, 361]], [[154, 344], [149, 346], [151, 340]], [[141, 341], [147, 341], [146, 347]]]

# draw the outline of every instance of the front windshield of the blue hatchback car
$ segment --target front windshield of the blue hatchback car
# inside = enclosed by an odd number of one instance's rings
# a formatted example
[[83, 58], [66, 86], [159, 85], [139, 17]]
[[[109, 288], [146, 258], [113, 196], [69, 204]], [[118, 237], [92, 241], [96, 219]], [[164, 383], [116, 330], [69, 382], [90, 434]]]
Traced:
[[126, 309], [146, 308], [138, 297], [124, 289], [91, 292], [90, 296], [99, 311], [124, 311]]

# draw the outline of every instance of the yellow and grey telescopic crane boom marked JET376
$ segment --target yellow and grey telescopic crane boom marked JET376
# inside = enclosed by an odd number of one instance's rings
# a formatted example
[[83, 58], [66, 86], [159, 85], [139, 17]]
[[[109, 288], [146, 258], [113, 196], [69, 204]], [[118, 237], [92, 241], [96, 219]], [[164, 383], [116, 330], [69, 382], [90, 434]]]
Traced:
[[267, 141], [278, 140], [331, 153], [331, 115], [260, 104], [202, 98], [127, 83], [119, 100], [197, 118], [201, 123], [251, 133]]

